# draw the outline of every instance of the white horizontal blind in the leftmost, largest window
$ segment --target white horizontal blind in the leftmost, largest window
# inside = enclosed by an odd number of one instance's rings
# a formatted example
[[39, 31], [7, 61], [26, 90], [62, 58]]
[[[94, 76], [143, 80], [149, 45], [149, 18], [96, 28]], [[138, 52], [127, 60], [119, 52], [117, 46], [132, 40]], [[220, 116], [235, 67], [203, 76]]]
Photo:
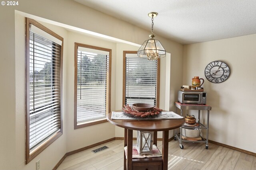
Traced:
[[60, 131], [61, 45], [30, 31], [29, 148]]

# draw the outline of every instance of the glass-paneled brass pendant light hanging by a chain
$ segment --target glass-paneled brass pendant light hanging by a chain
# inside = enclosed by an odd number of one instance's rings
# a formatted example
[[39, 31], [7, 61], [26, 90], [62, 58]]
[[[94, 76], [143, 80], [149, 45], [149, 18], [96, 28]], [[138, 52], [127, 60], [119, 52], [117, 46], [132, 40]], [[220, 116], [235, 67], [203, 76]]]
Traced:
[[153, 21], [157, 14], [158, 13], [156, 12], [148, 13], [148, 16], [152, 18], [151, 34], [149, 35], [151, 39], [144, 41], [140, 49], [137, 51], [137, 55], [139, 57], [148, 58], [148, 60], [157, 60], [158, 58], [164, 58], [166, 55], [166, 51], [160, 41], [154, 39], [156, 35], [153, 33]]

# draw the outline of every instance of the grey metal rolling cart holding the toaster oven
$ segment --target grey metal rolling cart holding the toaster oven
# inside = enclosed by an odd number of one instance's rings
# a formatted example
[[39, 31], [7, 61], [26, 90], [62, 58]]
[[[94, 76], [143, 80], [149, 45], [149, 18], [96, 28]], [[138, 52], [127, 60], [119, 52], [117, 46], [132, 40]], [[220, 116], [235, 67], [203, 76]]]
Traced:
[[[192, 143], [206, 143], [206, 149], [208, 149], [208, 131], [209, 131], [209, 114], [210, 114], [210, 110], [212, 109], [211, 106], [209, 105], [202, 105], [202, 104], [181, 104], [180, 102], [175, 102], [174, 105], [176, 106], [176, 113], [177, 112], [177, 108], [180, 109], [180, 115], [182, 116], [182, 110], [198, 110], [198, 126], [196, 127], [191, 127], [191, 126], [186, 126], [183, 125], [180, 127], [180, 133], [178, 133], [175, 129], [175, 136], [174, 136], [174, 140], [176, 141], [178, 139], [178, 141], [180, 142], [180, 149], [184, 149], [182, 142], [192, 142]], [[202, 123], [200, 123], [200, 111], [201, 110], [207, 110], [207, 125], [203, 125]], [[190, 141], [190, 140], [184, 140], [182, 139], [182, 128], [184, 129], [206, 129], [206, 139], [202, 138], [202, 140], [200, 141]]]

